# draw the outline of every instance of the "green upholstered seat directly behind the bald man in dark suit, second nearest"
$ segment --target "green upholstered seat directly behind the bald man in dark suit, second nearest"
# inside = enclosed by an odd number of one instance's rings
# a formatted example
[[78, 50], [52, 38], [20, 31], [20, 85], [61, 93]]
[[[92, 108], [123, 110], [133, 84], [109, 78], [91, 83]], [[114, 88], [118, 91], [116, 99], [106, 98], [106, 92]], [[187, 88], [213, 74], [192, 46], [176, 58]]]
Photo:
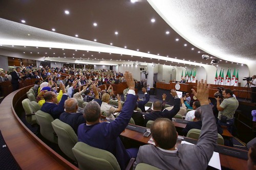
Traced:
[[59, 119], [53, 120], [52, 127], [58, 136], [60, 150], [75, 161], [76, 159], [72, 152], [72, 148], [78, 142], [78, 139], [73, 128], [70, 125], [61, 122]]

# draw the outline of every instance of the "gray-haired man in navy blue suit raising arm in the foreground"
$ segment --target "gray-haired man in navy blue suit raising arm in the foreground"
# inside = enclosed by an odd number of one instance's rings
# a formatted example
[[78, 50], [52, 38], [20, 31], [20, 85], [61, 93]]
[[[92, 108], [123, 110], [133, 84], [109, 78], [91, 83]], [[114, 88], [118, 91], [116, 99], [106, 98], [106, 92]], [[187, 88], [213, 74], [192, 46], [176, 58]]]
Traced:
[[116, 157], [121, 169], [125, 169], [130, 159], [135, 158], [138, 152], [137, 148], [126, 150], [119, 138], [119, 135], [128, 125], [132, 117], [137, 100], [132, 74], [125, 71], [124, 77], [130, 90], [120, 115], [111, 123], [100, 123], [100, 106], [95, 101], [92, 101], [84, 107], [84, 117], [87, 123], [81, 124], [78, 127], [78, 141], [111, 152]]

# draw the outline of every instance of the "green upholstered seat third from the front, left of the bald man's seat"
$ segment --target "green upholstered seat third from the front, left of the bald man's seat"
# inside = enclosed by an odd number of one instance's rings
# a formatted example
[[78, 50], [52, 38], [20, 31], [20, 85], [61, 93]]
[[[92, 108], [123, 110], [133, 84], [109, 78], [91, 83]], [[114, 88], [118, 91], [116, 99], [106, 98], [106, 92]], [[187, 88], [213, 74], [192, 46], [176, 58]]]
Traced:
[[40, 125], [41, 135], [53, 143], [58, 143], [58, 138], [52, 127], [53, 117], [49, 113], [43, 112], [41, 110], [35, 112], [35, 117], [38, 124]]

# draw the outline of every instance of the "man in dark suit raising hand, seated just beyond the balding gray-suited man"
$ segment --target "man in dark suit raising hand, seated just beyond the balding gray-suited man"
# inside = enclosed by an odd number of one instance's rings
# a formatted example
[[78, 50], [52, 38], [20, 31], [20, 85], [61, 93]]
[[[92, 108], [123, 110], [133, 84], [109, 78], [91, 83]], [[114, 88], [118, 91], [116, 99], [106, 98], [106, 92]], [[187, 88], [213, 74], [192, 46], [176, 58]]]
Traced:
[[160, 101], [155, 101], [153, 103], [153, 112], [145, 115], [144, 125], [146, 125], [148, 120], [155, 120], [159, 117], [165, 117], [172, 120], [172, 118], [180, 111], [180, 98], [178, 97], [176, 90], [170, 90], [171, 94], [174, 97], [174, 108], [170, 111], [162, 110], [162, 103]]

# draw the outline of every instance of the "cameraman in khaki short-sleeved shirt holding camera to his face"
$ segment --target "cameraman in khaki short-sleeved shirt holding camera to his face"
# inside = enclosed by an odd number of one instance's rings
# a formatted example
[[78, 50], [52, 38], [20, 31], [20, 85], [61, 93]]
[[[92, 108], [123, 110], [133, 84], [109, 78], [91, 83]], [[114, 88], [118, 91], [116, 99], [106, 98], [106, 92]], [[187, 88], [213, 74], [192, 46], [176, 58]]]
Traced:
[[227, 126], [227, 129], [232, 133], [232, 125], [234, 124], [234, 112], [237, 110], [239, 103], [236, 98], [233, 97], [233, 92], [230, 89], [222, 91], [223, 102], [220, 103], [220, 97], [215, 98], [217, 100], [218, 124], [220, 126]]

